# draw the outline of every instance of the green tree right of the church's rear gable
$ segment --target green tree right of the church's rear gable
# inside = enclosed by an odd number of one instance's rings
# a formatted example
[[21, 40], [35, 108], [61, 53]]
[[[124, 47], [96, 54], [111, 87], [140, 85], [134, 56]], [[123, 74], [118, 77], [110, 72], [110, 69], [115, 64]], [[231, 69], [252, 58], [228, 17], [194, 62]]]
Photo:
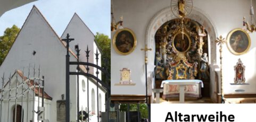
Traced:
[[[96, 33], [95, 35], [95, 41], [97, 45], [100, 48], [102, 55], [101, 55], [101, 66], [108, 69], [108, 72], [110, 73], [110, 43], [111, 40], [109, 36], [103, 34], [103, 33]], [[106, 79], [106, 75], [102, 73], [102, 81], [110, 81], [110, 77]], [[110, 82], [108, 82], [110, 85]]]

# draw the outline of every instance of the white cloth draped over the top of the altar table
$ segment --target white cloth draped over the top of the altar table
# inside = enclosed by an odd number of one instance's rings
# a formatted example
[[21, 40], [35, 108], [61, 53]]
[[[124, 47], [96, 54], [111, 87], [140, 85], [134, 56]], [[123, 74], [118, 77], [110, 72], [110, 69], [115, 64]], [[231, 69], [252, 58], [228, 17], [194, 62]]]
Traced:
[[[163, 88], [163, 84], [166, 84], [166, 83], [170, 85], [178, 85], [176, 82], [179, 82], [179, 84], [187, 84], [189, 82], [201, 83], [201, 87], [203, 88], [203, 82], [201, 80], [164, 80], [161, 83], [161, 88]], [[193, 83], [187, 84], [187, 85], [193, 85]]]

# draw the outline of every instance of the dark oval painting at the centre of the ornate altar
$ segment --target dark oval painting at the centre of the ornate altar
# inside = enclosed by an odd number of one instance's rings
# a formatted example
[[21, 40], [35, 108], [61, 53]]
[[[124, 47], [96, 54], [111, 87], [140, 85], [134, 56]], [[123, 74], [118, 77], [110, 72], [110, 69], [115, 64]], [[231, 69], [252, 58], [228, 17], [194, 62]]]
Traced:
[[191, 39], [187, 33], [176, 33], [172, 41], [172, 47], [179, 53], [186, 53], [191, 45]]

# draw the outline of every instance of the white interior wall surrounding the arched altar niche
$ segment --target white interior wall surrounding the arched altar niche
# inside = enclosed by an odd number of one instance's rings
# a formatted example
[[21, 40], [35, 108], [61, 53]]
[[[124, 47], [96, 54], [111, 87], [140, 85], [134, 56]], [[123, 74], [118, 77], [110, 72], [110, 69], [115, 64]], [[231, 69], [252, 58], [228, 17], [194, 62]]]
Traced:
[[[207, 31], [216, 30], [216, 37], [222, 35], [226, 38], [229, 31], [235, 28], [243, 27], [243, 16], [245, 16], [249, 21], [249, 7], [250, 1], [239, 1], [239, 0], [225, 0], [225, 1], [213, 1], [213, 0], [197, 0], [193, 1], [194, 7], [202, 13], [202, 15], [207, 16], [212, 23], [202, 22], [202, 25], [212, 24], [213, 28]], [[255, 2], [253, 1], [253, 5]], [[147, 27], [151, 23], [156, 13], [159, 13], [164, 8], [170, 6], [170, 1], [154, 1], [154, 0], [143, 0], [143, 1], [117, 1], [113, 0], [114, 16], [116, 21], [120, 16], [123, 16], [123, 27], [129, 28], [134, 31], [137, 38], [137, 46], [133, 53], [122, 56], [115, 52], [113, 45], [111, 45], [111, 94], [145, 94], [145, 67], [144, 67], [144, 51], [141, 48], [145, 47], [145, 43], [150, 40], [146, 40]], [[255, 7], [254, 7], [255, 8]], [[167, 16], [171, 16], [171, 11]], [[198, 18], [201, 20], [201, 18]], [[203, 19], [205, 20], [205, 19]], [[168, 20], [159, 20], [159, 26]], [[156, 22], [157, 24], [157, 22]], [[155, 28], [157, 30], [158, 28]], [[154, 30], [154, 29], [152, 29]], [[114, 32], [111, 33], [111, 39], [113, 39]], [[150, 35], [152, 36], [152, 35]], [[254, 34], [251, 34], [251, 48], [248, 53], [240, 56], [235, 56], [231, 54], [227, 46], [224, 45], [223, 49], [223, 81], [224, 81], [224, 91], [225, 93], [234, 93], [236, 89], [244, 89], [245, 93], [256, 93], [254, 82], [256, 79], [256, 39]], [[150, 38], [154, 38], [153, 36]], [[213, 39], [209, 41], [215, 41]], [[216, 48], [216, 45], [211, 45], [211, 48]], [[154, 44], [151, 47], [154, 50]], [[154, 52], [153, 52], [154, 54]], [[216, 56], [217, 55], [217, 56]], [[210, 61], [212, 67], [214, 65], [219, 65], [219, 48], [217, 47], [214, 51], [211, 51]], [[135, 60], [136, 58], [136, 60]], [[149, 59], [152, 57], [148, 57]], [[154, 58], [154, 57], [153, 57]], [[234, 66], [236, 65], [237, 59], [241, 58], [242, 62], [246, 66], [245, 78], [246, 83], [250, 85], [230, 85], [233, 83], [234, 79]], [[118, 62], [118, 63], [116, 63]], [[131, 69], [131, 80], [136, 83], [135, 86], [115, 86], [115, 83], [120, 81], [120, 72], [122, 68]], [[216, 69], [213, 69], [216, 70]], [[153, 71], [153, 64], [149, 64], [148, 71]], [[214, 75], [211, 73], [211, 75]], [[211, 95], [213, 94], [214, 81], [211, 80]]]

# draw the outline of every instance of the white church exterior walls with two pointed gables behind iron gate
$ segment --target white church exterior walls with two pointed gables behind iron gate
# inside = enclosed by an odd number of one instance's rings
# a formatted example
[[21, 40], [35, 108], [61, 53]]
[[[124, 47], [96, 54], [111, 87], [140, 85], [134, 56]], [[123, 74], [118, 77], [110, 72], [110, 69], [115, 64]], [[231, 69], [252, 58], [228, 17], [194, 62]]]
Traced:
[[[75, 22], [74, 22], [75, 21]], [[79, 24], [82, 24], [80, 26]], [[78, 26], [77, 26], [78, 25]], [[73, 28], [75, 26], [75, 28]], [[80, 32], [80, 33], [78, 33]], [[81, 33], [82, 32], [82, 33]], [[69, 23], [67, 29], [63, 34], [63, 38], [70, 33], [70, 38], [75, 38], [75, 41], [70, 42], [70, 48], [75, 52], [75, 45], [79, 43], [80, 59], [86, 62], [85, 51], [88, 45], [90, 51], [89, 62], [95, 63], [94, 54], [96, 53], [97, 46], [94, 42], [94, 35], [86, 27], [86, 25], [80, 20], [80, 18], [75, 14]], [[73, 36], [72, 36], [73, 35]], [[32, 55], [33, 51], [36, 51], [35, 55]], [[100, 51], [98, 51], [100, 53]], [[16, 38], [9, 54], [6, 56], [2, 66], [0, 67], [0, 74], [12, 74], [15, 69], [22, 70], [24, 68], [24, 76], [28, 76], [28, 68], [30, 65], [30, 76], [34, 75], [32, 71], [34, 65], [36, 66], [36, 76], [38, 76], [38, 67], [40, 66], [40, 75], [45, 76], [45, 91], [50, 95], [53, 100], [51, 104], [47, 104], [45, 109], [47, 113], [45, 115], [46, 119], [49, 121], [57, 121], [56, 115], [56, 101], [61, 100], [61, 94], [65, 94], [65, 55], [66, 48], [61, 43], [60, 38], [55, 34], [52, 28], [48, 25], [46, 20], [40, 14], [36, 7], [32, 8], [28, 19], [24, 23], [18, 37]], [[76, 61], [75, 56], [70, 54], [70, 61]], [[99, 55], [98, 65], [101, 66], [101, 55]], [[70, 66], [71, 72], [76, 72], [76, 65]], [[94, 71], [94, 72], [93, 72]], [[90, 72], [96, 76], [96, 68], [90, 68]], [[6, 76], [6, 75], [5, 75]], [[80, 80], [86, 80], [84, 76]], [[99, 79], [101, 79], [101, 72], [98, 74]], [[5, 81], [6, 82], [6, 81]], [[2, 83], [2, 82], [1, 82]], [[87, 85], [87, 83], [86, 83]], [[2, 84], [1, 84], [2, 86]], [[77, 118], [77, 83], [76, 76], [70, 75], [70, 120], [76, 121]], [[101, 85], [100, 85], [101, 86]], [[80, 86], [81, 88], [81, 83]], [[96, 85], [89, 82], [89, 89], [94, 89], [96, 92]], [[82, 89], [80, 89], [81, 91]], [[91, 92], [91, 91], [90, 91]], [[90, 93], [89, 92], [89, 93]], [[87, 93], [80, 92], [80, 108], [82, 106], [87, 106]], [[85, 97], [86, 94], [86, 97]], [[102, 95], [102, 110], [105, 111], [105, 91], [99, 89], [99, 94]], [[89, 94], [90, 97], [91, 93]], [[96, 94], [95, 94], [96, 98]], [[65, 99], [65, 98], [64, 98]], [[91, 98], [90, 98], [91, 99]], [[86, 101], [86, 102], [84, 102]], [[95, 99], [95, 101], [97, 101]], [[32, 104], [29, 103], [30, 106]], [[82, 105], [83, 104], [83, 105]], [[85, 106], [86, 104], [86, 106]], [[96, 104], [96, 103], [95, 103]], [[90, 106], [91, 101], [90, 101]], [[92, 109], [92, 108], [90, 108]], [[7, 108], [6, 108], [7, 110]], [[37, 100], [35, 104], [35, 110], [37, 110]], [[95, 107], [97, 110], [97, 107]], [[32, 117], [32, 116], [31, 116]], [[97, 117], [97, 116], [96, 116]], [[95, 118], [95, 116], [94, 116]], [[35, 120], [37, 117], [35, 118]], [[24, 119], [26, 120], [26, 119]]]

